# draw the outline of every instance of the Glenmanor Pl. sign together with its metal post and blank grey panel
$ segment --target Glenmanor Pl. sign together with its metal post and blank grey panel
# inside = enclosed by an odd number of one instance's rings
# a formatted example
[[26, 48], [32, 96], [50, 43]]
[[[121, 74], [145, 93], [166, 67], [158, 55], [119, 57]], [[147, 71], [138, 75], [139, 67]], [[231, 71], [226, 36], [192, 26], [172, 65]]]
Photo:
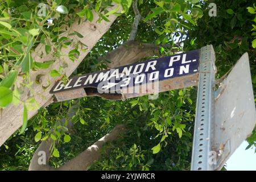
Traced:
[[256, 113], [247, 53], [216, 91], [215, 73], [214, 49], [205, 46], [71, 77], [56, 82], [50, 93], [56, 102], [85, 96], [125, 100], [198, 86], [191, 169], [219, 170], [253, 131]]

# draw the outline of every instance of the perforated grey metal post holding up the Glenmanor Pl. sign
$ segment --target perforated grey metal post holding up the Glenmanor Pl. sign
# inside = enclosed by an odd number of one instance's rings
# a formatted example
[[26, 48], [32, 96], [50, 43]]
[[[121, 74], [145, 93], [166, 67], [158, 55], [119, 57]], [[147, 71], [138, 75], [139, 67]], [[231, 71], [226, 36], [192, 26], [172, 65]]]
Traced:
[[209, 164], [212, 122], [214, 115], [215, 54], [213, 47], [201, 48], [196, 119], [193, 137], [191, 170], [213, 170]]

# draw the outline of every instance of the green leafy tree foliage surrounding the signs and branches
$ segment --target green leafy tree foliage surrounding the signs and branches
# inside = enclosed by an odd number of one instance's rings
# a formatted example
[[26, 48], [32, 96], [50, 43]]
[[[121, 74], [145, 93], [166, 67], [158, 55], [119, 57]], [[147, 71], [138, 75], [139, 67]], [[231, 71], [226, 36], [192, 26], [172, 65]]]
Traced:
[[[129, 38], [134, 20], [131, 1], [117, 1], [118, 10], [107, 11], [112, 1], [47, 1], [49, 8], [45, 17], [36, 12], [37, 1], [6, 1], [1, 3], [0, 11], [0, 107], [19, 102], [25, 105], [24, 125], [0, 148], [0, 169], [26, 170], [39, 143], [49, 138], [52, 143], [51, 166], [59, 167], [84, 151], [96, 140], [107, 134], [119, 123], [129, 128], [122, 139], [105, 147], [110, 151], [90, 169], [104, 170], [180, 170], [189, 169], [191, 163], [193, 121], [195, 118], [196, 88], [172, 90], [159, 94], [157, 100], [147, 96], [126, 101], [108, 101], [99, 97], [79, 99], [79, 107], [72, 118], [72, 130], [67, 122], [67, 111], [75, 101], [58, 102], [40, 108], [30, 121], [26, 110], [38, 108], [31, 89], [30, 72], [51, 68], [54, 60], [37, 63], [32, 59], [34, 48], [43, 43], [47, 53], [54, 50], [60, 57], [61, 47], [68, 46], [72, 40], [59, 39], [61, 25], [71, 25], [75, 18], [93, 20], [92, 11], [99, 15], [98, 21], [108, 21], [108, 15], [118, 15], [92, 51], [85, 57], [73, 75], [105, 69], [105, 60], [99, 60], [106, 52], [120, 46]], [[255, 93], [255, 6], [251, 1], [214, 1], [217, 17], [208, 15], [207, 1], [142, 1], [138, 9], [142, 15], [136, 40], [144, 43], [170, 44], [184, 43], [183, 50], [201, 48], [213, 44], [216, 52], [217, 78], [224, 75], [244, 52], [249, 52], [253, 89]], [[248, 12], [249, 11], [249, 12]], [[253, 14], [251, 14], [253, 13]], [[66, 18], [69, 18], [66, 21]], [[254, 27], [255, 29], [255, 27]], [[78, 32], [73, 35], [81, 37]], [[114, 36], [113, 36], [114, 35]], [[177, 39], [176, 42], [174, 39]], [[171, 55], [170, 48], [160, 48], [160, 56]], [[79, 52], [76, 48], [68, 56], [76, 61]], [[150, 57], [151, 58], [151, 57]], [[145, 58], [146, 59], [146, 58]], [[16, 80], [23, 75], [23, 81]], [[61, 69], [52, 69], [49, 77], [59, 77]], [[19, 86], [18, 86], [19, 85]], [[20, 87], [21, 86], [21, 87]], [[31, 98], [20, 98], [22, 87], [31, 89]], [[250, 146], [255, 144], [255, 134], [248, 139]], [[104, 148], [104, 149], [106, 149]], [[103, 152], [103, 151], [102, 151]]]

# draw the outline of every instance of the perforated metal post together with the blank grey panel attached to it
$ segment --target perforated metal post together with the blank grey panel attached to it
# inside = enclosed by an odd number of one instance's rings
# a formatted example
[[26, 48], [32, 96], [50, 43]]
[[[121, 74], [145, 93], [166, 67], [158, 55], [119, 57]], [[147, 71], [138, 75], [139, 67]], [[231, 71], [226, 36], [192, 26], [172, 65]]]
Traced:
[[193, 137], [193, 171], [220, 170], [256, 124], [249, 57], [245, 53], [214, 91], [214, 50], [202, 48], [196, 121]]

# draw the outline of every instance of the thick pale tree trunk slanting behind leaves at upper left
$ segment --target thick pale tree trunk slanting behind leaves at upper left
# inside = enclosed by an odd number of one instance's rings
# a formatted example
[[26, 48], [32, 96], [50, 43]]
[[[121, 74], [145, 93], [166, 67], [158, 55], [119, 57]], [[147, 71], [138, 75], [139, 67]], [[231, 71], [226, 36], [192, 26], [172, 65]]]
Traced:
[[[109, 9], [113, 10], [117, 7], [117, 5], [111, 7]], [[105, 34], [106, 31], [109, 30], [109, 27], [114, 22], [114, 20], [117, 18], [115, 15], [110, 15], [108, 19], [110, 22], [102, 21], [101, 23], [96, 23], [98, 19], [98, 15], [93, 12], [93, 22], [82, 21], [80, 24], [78, 23], [78, 20], [75, 21], [75, 23], [72, 24], [71, 27], [67, 28], [65, 27], [65, 33], [60, 35], [67, 36], [68, 38], [73, 39], [73, 43], [68, 46], [67, 48], [61, 49], [62, 55], [68, 55], [68, 52], [71, 51], [74, 46], [74, 43], [80, 41], [88, 47], [86, 52], [81, 51], [81, 46], [79, 46], [78, 51], [80, 52], [79, 59], [75, 60], [74, 62], [69, 60], [68, 56], [61, 56], [59, 59], [56, 59], [56, 57], [53, 56], [53, 49], [51, 53], [48, 55], [44, 51], [44, 45], [39, 44], [38, 47], [35, 49], [35, 53], [32, 54], [32, 57], [34, 57], [35, 61], [43, 62], [48, 60], [55, 60], [55, 63], [53, 63], [52, 67], [49, 69], [40, 69], [38, 71], [31, 71], [31, 81], [34, 81], [34, 84], [32, 85], [32, 90], [35, 93], [34, 97], [36, 102], [40, 107], [47, 106], [52, 103], [52, 94], [49, 94], [49, 90], [52, 88], [52, 86], [55, 84], [56, 78], [52, 78], [49, 76], [49, 72], [52, 69], [59, 70], [61, 65], [67, 64], [67, 67], [63, 69], [62, 74], [69, 77], [72, 72], [77, 68], [77, 66], [81, 63], [82, 59], [89, 53], [89, 51], [93, 48], [93, 46], [98, 42], [98, 40], [101, 38], [102, 35]], [[81, 35], [83, 35], [83, 38], [78, 38], [76, 35], [69, 36], [70, 33], [73, 31], [79, 32]], [[40, 84], [35, 84], [36, 76], [42, 75], [40, 77]], [[17, 78], [19, 81], [23, 81], [22, 76], [19, 76]], [[57, 78], [60, 79], [60, 78]], [[20, 98], [22, 100], [26, 101], [27, 98], [31, 97], [30, 91], [27, 88], [24, 88], [24, 93]], [[19, 129], [20, 126], [22, 126], [22, 118], [23, 118], [23, 107], [24, 105], [20, 103], [18, 106], [9, 105], [5, 109], [2, 110], [2, 114], [0, 115], [0, 146], [16, 131]], [[30, 119], [33, 115], [35, 115], [38, 112], [38, 110], [33, 110], [28, 112], [28, 119]]]

